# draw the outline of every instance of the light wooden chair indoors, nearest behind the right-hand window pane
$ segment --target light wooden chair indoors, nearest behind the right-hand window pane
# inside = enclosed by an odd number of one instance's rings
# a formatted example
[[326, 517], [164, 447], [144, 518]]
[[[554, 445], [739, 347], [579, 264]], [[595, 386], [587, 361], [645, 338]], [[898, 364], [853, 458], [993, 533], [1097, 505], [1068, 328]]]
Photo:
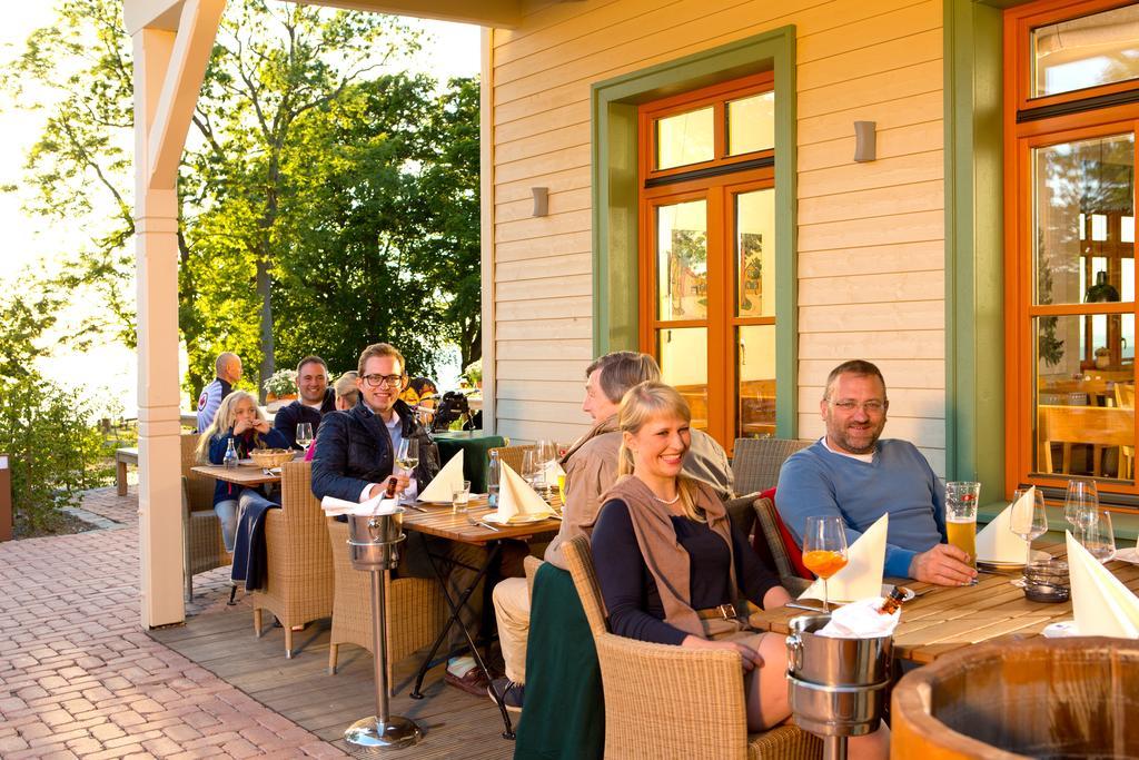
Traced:
[[[1068, 473], [1072, 468], [1072, 444], [1090, 443], [1092, 447], [1091, 474], [1107, 476], [1104, 472], [1106, 448], [1134, 447], [1134, 409], [1112, 407], [1054, 407], [1041, 404], [1038, 410], [1036, 461], [1046, 473]], [[1063, 443], [1059, 469], [1052, 460], [1052, 443]], [[1131, 459], [1120, 457], [1118, 477], [1132, 477]]]

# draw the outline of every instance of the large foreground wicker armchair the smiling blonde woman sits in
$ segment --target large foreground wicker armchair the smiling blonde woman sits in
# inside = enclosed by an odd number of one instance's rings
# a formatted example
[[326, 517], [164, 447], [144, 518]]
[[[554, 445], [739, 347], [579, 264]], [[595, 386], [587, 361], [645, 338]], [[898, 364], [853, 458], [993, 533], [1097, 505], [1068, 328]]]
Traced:
[[677, 760], [821, 757], [822, 742], [796, 726], [748, 735], [738, 654], [611, 634], [589, 541], [567, 541], [565, 557], [601, 664], [606, 758], [644, 758], [647, 747]]

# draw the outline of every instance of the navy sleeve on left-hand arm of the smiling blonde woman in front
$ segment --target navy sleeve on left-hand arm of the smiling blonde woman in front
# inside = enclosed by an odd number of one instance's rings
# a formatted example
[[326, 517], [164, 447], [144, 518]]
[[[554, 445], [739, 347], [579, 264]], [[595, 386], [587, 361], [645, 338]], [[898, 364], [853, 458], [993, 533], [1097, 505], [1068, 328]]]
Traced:
[[593, 566], [601, 597], [609, 612], [609, 627], [617, 636], [656, 644], [679, 645], [688, 636], [679, 628], [644, 610], [648, 567], [641, 556], [629, 507], [614, 499], [605, 502], [591, 540]]

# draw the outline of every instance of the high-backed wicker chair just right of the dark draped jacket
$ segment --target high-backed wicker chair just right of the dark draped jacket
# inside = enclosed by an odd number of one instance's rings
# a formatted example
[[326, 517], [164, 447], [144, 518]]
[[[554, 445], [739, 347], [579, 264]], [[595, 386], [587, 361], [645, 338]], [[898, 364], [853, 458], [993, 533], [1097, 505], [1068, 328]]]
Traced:
[[293, 626], [333, 614], [333, 555], [325, 514], [312, 496], [312, 463], [281, 467], [281, 508], [265, 513], [264, 586], [249, 597], [253, 629], [262, 634], [262, 611], [285, 628], [285, 656], [293, 656]]

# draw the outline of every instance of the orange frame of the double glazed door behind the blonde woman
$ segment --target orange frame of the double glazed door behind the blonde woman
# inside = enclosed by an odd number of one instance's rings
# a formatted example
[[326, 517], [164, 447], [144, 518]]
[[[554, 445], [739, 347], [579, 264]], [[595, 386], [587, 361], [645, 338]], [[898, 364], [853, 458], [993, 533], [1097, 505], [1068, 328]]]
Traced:
[[[757, 150], [739, 156], [727, 155], [727, 103], [773, 89], [771, 73], [734, 80], [640, 107], [640, 219], [639, 269], [640, 288], [639, 342], [641, 351], [659, 359], [656, 343], [662, 329], [700, 327], [707, 330], [707, 433], [731, 453], [735, 443], [736, 399], [736, 330], [747, 325], [775, 325], [776, 317], [738, 317], [736, 314], [735, 196], [753, 190], [775, 188], [773, 162], [756, 167], [737, 166], [756, 160], [773, 158], [775, 150]], [[656, 160], [656, 120], [712, 105], [714, 157], [695, 164], [667, 170], [653, 169]], [[689, 172], [712, 170], [712, 175], [686, 179]], [[716, 173], [720, 170], [721, 173]], [[664, 183], [654, 183], [652, 180]], [[704, 319], [662, 320], [657, 317], [656, 211], [661, 206], [703, 199], [707, 202], [707, 316]], [[773, 278], [772, 278], [773, 281]]]

